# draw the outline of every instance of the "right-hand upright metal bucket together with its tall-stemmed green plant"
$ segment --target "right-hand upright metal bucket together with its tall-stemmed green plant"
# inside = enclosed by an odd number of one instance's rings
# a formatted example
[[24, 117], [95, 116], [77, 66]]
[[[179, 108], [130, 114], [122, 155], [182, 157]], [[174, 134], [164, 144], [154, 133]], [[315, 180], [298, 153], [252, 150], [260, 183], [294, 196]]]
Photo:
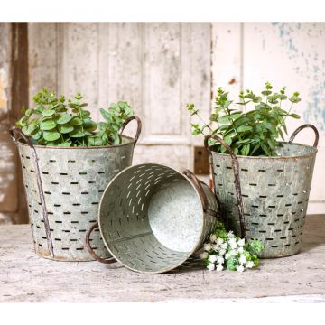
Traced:
[[[228, 92], [218, 88], [209, 123], [188, 104], [190, 115], [203, 122], [192, 124], [193, 135], [205, 136], [225, 224], [243, 238], [260, 240], [260, 257], [293, 255], [302, 246], [319, 134], [315, 126], [302, 125], [284, 142], [286, 118], [300, 117], [292, 113], [300, 100], [298, 92], [288, 98], [285, 88], [274, 92], [267, 82], [261, 94], [240, 92], [236, 104], [243, 109], [238, 109]], [[315, 133], [314, 144], [292, 143], [306, 127]]]

